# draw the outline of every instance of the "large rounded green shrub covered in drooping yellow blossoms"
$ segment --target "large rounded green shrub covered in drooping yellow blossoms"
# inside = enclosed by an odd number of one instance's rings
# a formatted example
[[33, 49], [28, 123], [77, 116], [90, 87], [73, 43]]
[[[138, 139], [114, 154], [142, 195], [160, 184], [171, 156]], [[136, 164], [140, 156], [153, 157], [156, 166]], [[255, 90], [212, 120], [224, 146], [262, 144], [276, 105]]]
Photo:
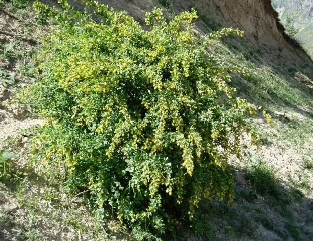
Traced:
[[58, 23], [25, 95], [46, 118], [32, 141], [38, 167], [50, 176], [64, 167], [70, 192], [88, 191], [94, 206], [156, 232], [192, 219], [203, 199], [230, 201], [227, 160], [257, 108], [232, 97], [229, 71], [208, 46], [242, 32], [196, 38], [195, 10], [166, 21], [161, 9], [146, 14], [144, 30], [125, 12], [85, 4], [92, 15], [35, 4]]

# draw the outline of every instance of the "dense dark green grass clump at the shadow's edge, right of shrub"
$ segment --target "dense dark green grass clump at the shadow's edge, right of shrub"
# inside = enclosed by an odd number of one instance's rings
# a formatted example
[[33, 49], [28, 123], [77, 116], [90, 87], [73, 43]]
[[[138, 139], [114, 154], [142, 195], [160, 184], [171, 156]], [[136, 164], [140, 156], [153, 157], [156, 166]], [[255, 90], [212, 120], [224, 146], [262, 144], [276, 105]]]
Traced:
[[275, 178], [275, 170], [260, 162], [247, 168], [246, 178], [261, 195], [279, 196], [278, 181]]

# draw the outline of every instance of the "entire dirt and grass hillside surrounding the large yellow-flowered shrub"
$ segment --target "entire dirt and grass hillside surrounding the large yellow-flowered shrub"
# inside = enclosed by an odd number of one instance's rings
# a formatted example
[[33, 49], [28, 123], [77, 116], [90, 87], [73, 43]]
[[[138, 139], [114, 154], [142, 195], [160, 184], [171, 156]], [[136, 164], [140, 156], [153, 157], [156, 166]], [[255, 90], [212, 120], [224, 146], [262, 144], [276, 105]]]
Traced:
[[[243, 160], [229, 161], [236, 179], [233, 202], [202, 201], [195, 213], [201, 222], [176, 220], [174, 230], [161, 239], [132, 230], [109, 206], [90, 208], [93, 190], [66, 188], [64, 161], [47, 166], [31, 159], [36, 151], [30, 150], [31, 140], [46, 120], [31, 103], [22, 104], [18, 93], [42, 78], [35, 74], [33, 58], [55, 22], [38, 14], [32, 1], [0, 1], [0, 240], [312, 240], [313, 62], [284, 33], [271, 1], [101, 2], [126, 11], [143, 29], [149, 28], [146, 11], [158, 6], [168, 20], [195, 8], [195, 38], [223, 27], [244, 30], [244, 38], [210, 40], [208, 51], [230, 69], [241, 70], [230, 73], [229, 86], [237, 88], [237, 96], [263, 106], [274, 123], [268, 124], [262, 113], [247, 116], [261, 143], [253, 146], [251, 137], [243, 135]], [[307, 10], [311, 1], [290, 4]], [[280, 15], [291, 6], [283, 1], [273, 5], [282, 6]], [[299, 24], [308, 24], [304, 19], [311, 14], [301, 13]], [[302, 31], [310, 41], [310, 27]]]

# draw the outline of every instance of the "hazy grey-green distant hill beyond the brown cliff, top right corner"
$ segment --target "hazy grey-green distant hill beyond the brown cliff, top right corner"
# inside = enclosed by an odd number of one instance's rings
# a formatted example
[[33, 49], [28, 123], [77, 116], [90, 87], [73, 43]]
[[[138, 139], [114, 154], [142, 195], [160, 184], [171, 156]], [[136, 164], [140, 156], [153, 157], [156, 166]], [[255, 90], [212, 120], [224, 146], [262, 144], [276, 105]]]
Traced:
[[273, 7], [286, 25], [287, 16], [299, 30], [295, 38], [313, 56], [313, 0], [273, 0]]

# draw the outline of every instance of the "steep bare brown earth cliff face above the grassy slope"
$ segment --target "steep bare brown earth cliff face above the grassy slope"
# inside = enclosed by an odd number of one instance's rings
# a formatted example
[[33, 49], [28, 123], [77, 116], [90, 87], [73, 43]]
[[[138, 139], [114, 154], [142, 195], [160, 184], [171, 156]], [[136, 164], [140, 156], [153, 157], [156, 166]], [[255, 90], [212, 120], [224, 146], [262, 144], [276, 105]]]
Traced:
[[301, 58], [309, 59], [303, 50], [294, 47], [296, 43], [284, 33], [284, 27], [279, 22], [279, 15], [272, 7], [271, 0], [173, 1], [173, 6], [178, 6], [180, 11], [190, 8], [191, 4], [200, 10], [200, 15], [208, 16], [223, 26], [236, 26], [244, 30], [246, 37], [254, 44], [284, 47]]

